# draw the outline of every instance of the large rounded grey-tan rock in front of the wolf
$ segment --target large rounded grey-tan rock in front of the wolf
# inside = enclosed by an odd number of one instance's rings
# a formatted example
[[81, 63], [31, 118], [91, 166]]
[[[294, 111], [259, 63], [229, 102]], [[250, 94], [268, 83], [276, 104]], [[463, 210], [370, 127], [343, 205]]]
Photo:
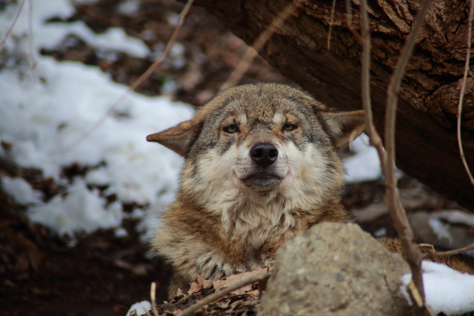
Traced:
[[278, 250], [258, 315], [407, 315], [409, 271], [356, 224], [318, 224]]

